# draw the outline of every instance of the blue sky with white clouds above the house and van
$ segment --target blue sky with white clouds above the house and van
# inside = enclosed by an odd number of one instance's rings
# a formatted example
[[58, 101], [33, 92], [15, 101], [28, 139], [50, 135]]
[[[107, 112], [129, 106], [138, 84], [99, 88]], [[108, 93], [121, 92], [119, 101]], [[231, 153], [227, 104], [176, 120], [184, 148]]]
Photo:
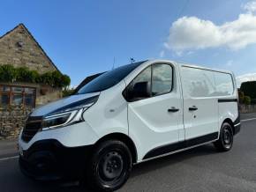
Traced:
[[0, 36], [23, 23], [72, 86], [146, 59], [256, 80], [256, 1], [2, 0]]

